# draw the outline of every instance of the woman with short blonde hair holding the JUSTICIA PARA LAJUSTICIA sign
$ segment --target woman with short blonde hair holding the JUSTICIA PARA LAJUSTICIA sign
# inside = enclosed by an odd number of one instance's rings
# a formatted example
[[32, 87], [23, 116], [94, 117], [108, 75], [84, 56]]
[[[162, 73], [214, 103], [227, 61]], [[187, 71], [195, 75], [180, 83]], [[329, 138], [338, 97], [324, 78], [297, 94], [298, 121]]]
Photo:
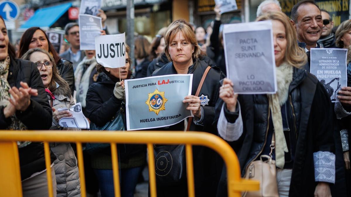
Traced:
[[[160, 130], [170, 131], [205, 131], [217, 134], [213, 127], [214, 106], [218, 99], [219, 81], [224, 74], [218, 67], [211, 67], [206, 76], [208, 63], [198, 59], [200, 46], [196, 41], [191, 26], [184, 20], [174, 21], [165, 33], [165, 53], [170, 61], [156, 70], [152, 76], [170, 74], [193, 74], [192, 95], [182, 101], [188, 103], [188, 110], [192, 110], [194, 120], [181, 121], [178, 124]], [[205, 80], [198, 96], [196, 91], [201, 78]], [[184, 155], [179, 155], [179, 157]], [[197, 196], [215, 196], [221, 161], [214, 151], [205, 147], [193, 147], [194, 181]], [[157, 182], [157, 196], [187, 196], [186, 179], [174, 183]]]

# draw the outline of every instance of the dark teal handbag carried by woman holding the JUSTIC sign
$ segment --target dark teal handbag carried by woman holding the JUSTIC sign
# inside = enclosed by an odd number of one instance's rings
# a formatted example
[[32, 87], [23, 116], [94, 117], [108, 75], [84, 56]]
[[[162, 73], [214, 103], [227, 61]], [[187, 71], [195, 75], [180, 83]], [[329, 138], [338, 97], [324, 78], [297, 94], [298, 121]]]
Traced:
[[[113, 116], [111, 121], [108, 121], [104, 126], [100, 127], [93, 122], [90, 123], [90, 130], [105, 130], [105, 131], [123, 131], [124, 127], [124, 117], [121, 110]], [[87, 143], [85, 145], [85, 151], [88, 154], [95, 154], [103, 149], [109, 148], [110, 143]]]

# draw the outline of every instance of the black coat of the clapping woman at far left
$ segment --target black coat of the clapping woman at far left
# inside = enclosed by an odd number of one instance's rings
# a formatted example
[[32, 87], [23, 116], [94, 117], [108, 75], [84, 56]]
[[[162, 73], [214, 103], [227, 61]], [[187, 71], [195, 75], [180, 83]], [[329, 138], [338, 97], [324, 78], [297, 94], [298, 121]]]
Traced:
[[[28, 130], [50, 129], [52, 110], [47, 100], [37, 66], [33, 62], [19, 59], [10, 60], [7, 81], [11, 87], [20, 88], [20, 82], [26, 82], [29, 87], [38, 90], [38, 96], [31, 96], [31, 104], [26, 111], [16, 111], [16, 117], [26, 125]], [[0, 106], [0, 129], [6, 129], [11, 124], [11, 118], [5, 118], [4, 106]], [[44, 146], [40, 143], [31, 143], [19, 149], [20, 169], [22, 180], [35, 172], [45, 169]], [[51, 154], [51, 162], [55, 156]]]

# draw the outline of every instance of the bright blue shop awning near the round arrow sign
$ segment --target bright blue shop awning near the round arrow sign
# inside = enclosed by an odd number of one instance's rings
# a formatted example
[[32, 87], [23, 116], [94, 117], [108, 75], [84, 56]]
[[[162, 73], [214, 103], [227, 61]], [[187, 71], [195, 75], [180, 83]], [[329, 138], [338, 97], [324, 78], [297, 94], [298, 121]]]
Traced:
[[27, 29], [30, 27], [41, 27], [48, 29], [52, 26], [67, 10], [72, 7], [72, 3], [61, 4], [42, 9], [37, 9], [34, 15], [23, 25], [20, 29]]

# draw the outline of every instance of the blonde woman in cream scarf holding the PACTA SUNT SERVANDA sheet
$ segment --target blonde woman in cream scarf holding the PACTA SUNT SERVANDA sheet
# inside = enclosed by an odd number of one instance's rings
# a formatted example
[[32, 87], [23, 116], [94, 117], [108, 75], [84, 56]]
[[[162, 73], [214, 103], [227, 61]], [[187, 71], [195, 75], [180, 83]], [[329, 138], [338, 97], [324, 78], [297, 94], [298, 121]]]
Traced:
[[[270, 196], [331, 196], [335, 154], [329, 95], [302, 69], [307, 58], [289, 18], [275, 12], [257, 20], [272, 20], [278, 91], [238, 96], [225, 79], [216, 104], [218, 132], [237, 152], [243, 177], [257, 179], [256, 163], [265, 161], [260, 158], [275, 161], [276, 168], [265, 172], [276, 182], [265, 185], [268, 179], [262, 180], [261, 191], [271, 191]], [[224, 170], [217, 196], [225, 196], [225, 176]]]

